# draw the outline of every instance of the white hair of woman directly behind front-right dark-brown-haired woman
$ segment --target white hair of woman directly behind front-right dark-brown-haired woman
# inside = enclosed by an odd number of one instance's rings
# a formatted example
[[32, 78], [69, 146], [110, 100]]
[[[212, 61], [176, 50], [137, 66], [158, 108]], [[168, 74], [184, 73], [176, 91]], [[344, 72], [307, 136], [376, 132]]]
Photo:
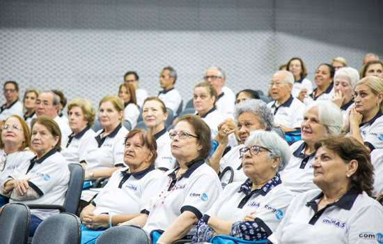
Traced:
[[329, 100], [315, 101], [306, 107], [305, 113], [316, 107], [318, 109], [319, 123], [325, 126], [329, 135], [339, 135], [342, 130], [343, 114], [341, 109]]

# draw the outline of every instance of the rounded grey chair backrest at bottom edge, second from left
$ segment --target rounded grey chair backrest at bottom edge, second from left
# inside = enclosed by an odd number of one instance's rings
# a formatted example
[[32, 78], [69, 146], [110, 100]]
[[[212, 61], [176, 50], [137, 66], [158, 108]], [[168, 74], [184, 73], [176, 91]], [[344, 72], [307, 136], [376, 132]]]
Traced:
[[81, 221], [72, 213], [52, 215], [36, 229], [32, 244], [78, 244], [81, 241]]

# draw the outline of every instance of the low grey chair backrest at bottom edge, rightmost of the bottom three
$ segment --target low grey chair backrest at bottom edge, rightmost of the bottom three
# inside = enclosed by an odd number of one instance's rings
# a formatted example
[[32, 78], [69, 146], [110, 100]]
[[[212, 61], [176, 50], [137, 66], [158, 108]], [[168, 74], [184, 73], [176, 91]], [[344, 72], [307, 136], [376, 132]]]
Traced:
[[147, 244], [150, 243], [146, 232], [134, 226], [118, 226], [107, 229], [95, 244]]

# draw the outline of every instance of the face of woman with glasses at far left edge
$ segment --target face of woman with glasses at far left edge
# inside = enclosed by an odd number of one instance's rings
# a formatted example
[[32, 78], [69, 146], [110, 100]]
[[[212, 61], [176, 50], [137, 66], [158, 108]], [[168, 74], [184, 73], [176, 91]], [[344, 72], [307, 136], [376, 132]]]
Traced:
[[22, 124], [15, 117], [9, 117], [3, 123], [1, 128], [1, 142], [5, 146], [8, 144], [17, 145], [17, 148], [22, 146], [24, 142], [24, 130]]

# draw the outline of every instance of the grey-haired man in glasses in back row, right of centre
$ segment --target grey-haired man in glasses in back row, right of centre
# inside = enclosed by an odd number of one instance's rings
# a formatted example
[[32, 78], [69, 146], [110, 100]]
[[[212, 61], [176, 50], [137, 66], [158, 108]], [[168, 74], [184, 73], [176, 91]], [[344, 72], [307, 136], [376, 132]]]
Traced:
[[225, 85], [226, 75], [224, 70], [219, 67], [210, 67], [205, 70], [205, 76], [203, 77], [206, 82], [209, 82], [214, 86], [217, 91], [218, 97], [215, 102], [217, 110], [221, 112], [227, 118], [233, 118], [234, 116], [234, 104], [235, 95], [230, 88]]

